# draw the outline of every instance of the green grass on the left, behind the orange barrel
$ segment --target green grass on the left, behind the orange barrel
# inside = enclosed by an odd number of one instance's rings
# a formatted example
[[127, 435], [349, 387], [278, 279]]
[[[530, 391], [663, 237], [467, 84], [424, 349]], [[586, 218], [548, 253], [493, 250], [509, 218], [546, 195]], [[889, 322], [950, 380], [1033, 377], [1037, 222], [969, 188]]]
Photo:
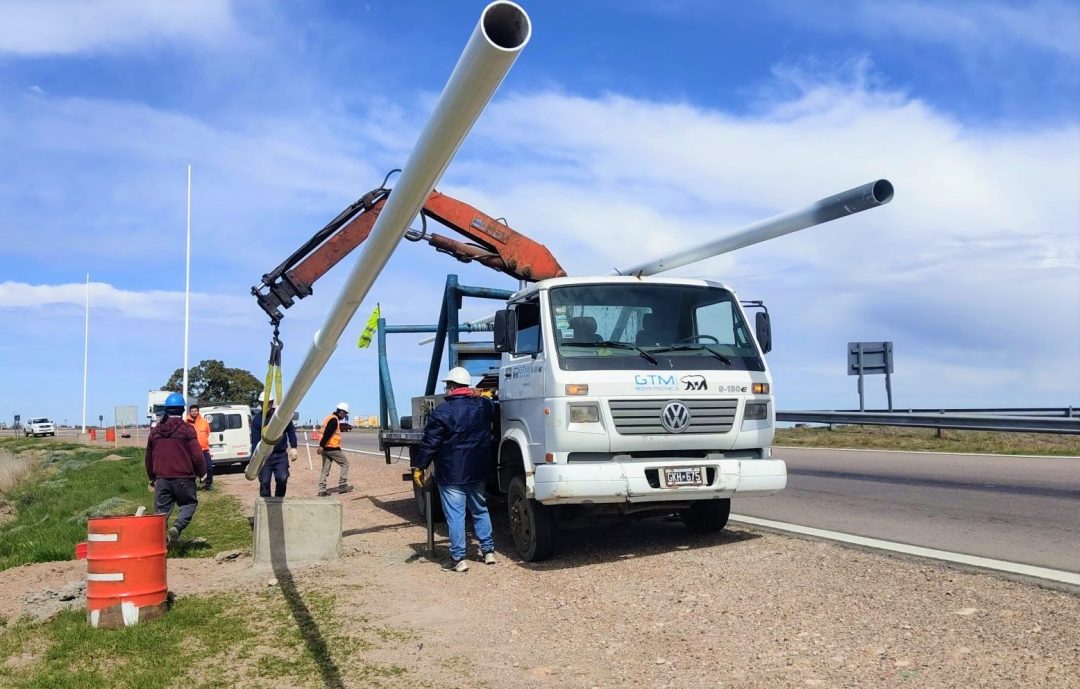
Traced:
[[[32, 449], [32, 455], [26, 450]], [[86, 519], [153, 512], [147, 490], [144, 450], [91, 448], [30, 438], [0, 441], [0, 451], [32, 457], [32, 470], [2, 498], [11, 514], [0, 525], [0, 570], [29, 563], [71, 559], [76, 543], [86, 540]], [[119, 461], [100, 461], [119, 455]], [[177, 510], [173, 511], [175, 518]], [[171, 551], [178, 557], [208, 557], [251, 541], [251, 527], [239, 500], [201, 492], [199, 509], [184, 540]]]

